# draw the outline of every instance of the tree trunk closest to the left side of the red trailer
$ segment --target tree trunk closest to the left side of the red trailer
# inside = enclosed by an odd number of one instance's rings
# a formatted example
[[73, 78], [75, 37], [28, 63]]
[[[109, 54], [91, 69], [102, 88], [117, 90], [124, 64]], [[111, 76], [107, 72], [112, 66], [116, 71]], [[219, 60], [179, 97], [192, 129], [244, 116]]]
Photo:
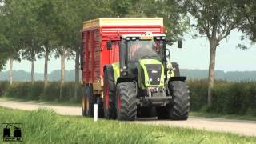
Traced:
[[75, 73], [74, 73], [74, 101], [78, 100], [78, 85], [79, 85], [79, 57], [80, 50], [79, 48], [75, 51]]

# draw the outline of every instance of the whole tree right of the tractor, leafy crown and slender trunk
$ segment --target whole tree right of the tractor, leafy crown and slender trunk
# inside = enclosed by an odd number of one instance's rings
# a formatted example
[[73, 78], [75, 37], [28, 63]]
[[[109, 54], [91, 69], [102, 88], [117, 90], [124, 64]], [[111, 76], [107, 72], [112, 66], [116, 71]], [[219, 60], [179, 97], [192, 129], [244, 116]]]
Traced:
[[238, 28], [241, 17], [233, 0], [185, 0], [184, 6], [196, 23], [193, 27], [210, 43], [210, 64], [208, 77], [208, 106], [212, 105], [214, 88], [214, 67], [219, 42]]

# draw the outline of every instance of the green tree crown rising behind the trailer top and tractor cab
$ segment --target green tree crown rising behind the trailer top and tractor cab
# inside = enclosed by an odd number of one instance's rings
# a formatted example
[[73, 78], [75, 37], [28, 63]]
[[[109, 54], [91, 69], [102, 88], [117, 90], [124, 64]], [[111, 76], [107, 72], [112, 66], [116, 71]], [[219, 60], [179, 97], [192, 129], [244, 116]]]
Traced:
[[110, 6], [115, 17], [163, 18], [169, 45], [188, 30], [188, 17], [177, 0], [113, 0]]

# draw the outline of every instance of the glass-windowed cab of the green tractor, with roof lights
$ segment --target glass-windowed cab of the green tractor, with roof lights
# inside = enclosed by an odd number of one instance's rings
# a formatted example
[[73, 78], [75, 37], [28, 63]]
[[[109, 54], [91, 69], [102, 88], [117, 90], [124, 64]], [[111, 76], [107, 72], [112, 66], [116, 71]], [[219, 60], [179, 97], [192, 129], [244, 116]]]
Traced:
[[122, 35], [119, 58], [121, 76], [138, 78], [138, 71], [143, 62], [151, 64], [153, 62], [166, 67], [166, 35], [152, 33]]

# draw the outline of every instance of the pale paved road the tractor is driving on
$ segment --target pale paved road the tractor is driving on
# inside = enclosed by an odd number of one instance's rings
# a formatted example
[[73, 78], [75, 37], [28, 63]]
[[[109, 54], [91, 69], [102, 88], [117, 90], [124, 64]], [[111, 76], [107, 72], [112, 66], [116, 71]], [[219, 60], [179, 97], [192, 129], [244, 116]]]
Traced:
[[[19, 110], [38, 110], [48, 108], [63, 115], [81, 115], [81, 108], [78, 106], [51, 106], [34, 102], [14, 102], [0, 99], [0, 106]], [[187, 121], [158, 121], [156, 118], [139, 118], [135, 121], [147, 125], [166, 125], [201, 130], [230, 132], [234, 134], [256, 136], [256, 121], [228, 120], [223, 118], [201, 118], [190, 116]]]

